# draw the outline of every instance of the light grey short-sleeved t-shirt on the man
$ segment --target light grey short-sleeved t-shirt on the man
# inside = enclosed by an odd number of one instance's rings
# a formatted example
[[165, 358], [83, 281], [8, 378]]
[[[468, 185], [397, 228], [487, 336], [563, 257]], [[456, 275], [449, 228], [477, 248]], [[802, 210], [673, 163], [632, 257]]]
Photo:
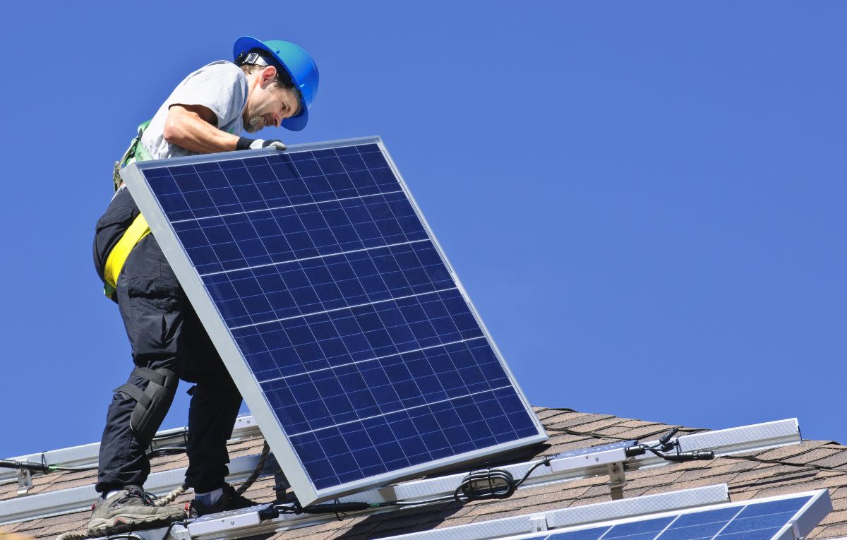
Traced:
[[193, 156], [198, 153], [164, 140], [164, 122], [168, 118], [168, 109], [177, 104], [208, 107], [218, 117], [218, 129], [241, 135], [244, 129], [241, 113], [247, 103], [247, 91], [247, 77], [241, 68], [225, 60], [208, 63], [176, 86], [144, 130], [141, 144], [152, 159]]

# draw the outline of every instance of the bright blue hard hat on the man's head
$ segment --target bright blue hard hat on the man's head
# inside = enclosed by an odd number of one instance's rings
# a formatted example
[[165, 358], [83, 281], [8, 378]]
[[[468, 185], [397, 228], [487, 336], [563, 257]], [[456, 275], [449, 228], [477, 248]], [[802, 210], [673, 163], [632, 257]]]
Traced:
[[236, 63], [241, 54], [252, 49], [269, 52], [277, 63], [291, 76], [300, 98], [300, 112], [285, 118], [281, 125], [291, 131], [300, 131], [309, 121], [309, 108], [318, 94], [318, 65], [302, 47], [291, 41], [258, 41], [255, 37], [242, 36], [235, 41], [232, 56]]

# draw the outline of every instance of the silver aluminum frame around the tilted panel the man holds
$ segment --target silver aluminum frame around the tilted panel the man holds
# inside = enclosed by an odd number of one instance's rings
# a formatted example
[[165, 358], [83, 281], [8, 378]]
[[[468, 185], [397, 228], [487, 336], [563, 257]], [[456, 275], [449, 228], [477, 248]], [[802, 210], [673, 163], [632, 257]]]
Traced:
[[[456, 283], [457, 289], [462, 295], [462, 298], [468, 302], [470, 311], [478, 322], [479, 328], [482, 330], [485, 339], [488, 344], [490, 344], [497, 359], [501, 362], [501, 366], [506, 372], [512, 386], [515, 388], [518, 398], [521, 399], [525, 410], [531, 417], [532, 422], [534, 422], [537, 430], [537, 434], [534, 437], [522, 438], [509, 443], [498, 444], [487, 449], [473, 450], [461, 455], [441, 458], [440, 460], [429, 461], [418, 466], [410, 466], [397, 471], [389, 471], [374, 477], [363, 478], [355, 482], [346, 482], [330, 488], [316, 489], [307, 476], [305, 466], [303, 466], [302, 462], [297, 457], [287, 435], [285, 435], [280, 427], [280, 422], [274, 415], [274, 411], [268, 404], [268, 400], [265, 398], [261, 388], [259, 388], [256, 377], [249, 370], [244, 357], [241, 355], [240, 350], [235, 344], [235, 339], [232, 337], [229, 328], [227, 328], [224, 324], [223, 318], [220, 316], [217, 307], [214, 305], [213, 300], [208, 294], [205, 286], [202, 284], [202, 278], [199, 273], [197, 273], [195, 267], [191, 264], [185, 250], [183, 250], [181, 246], [180, 240], [174, 232], [174, 229], [171, 228], [168, 219], [165, 218], [162, 207], [158, 204], [156, 197], [152, 195], [152, 190], [147, 184], [147, 179], [145, 179], [142, 175], [142, 171], [147, 168], [162, 167], [165, 160], [131, 163], [120, 172], [121, 179], [124, 180], [125, 185], [130, 190], [130, 194], [141, 209], [141, 213], [143, 213], [144, 217], [147, 219], [147, 223], [149, 224], [153, 234], [156, 236], [156, 240], [162, 248], [164, 256], [173, 268], [174, 274], [180, 280], [180, 284], [185, 290], [185, 294], [191, 300], [191, 304], [194, 306], [197, 316], [200, 318], [203, 326], [209, 334], [209, 337], [212, 339], [215, 348], [218, 350], [221, 359], [224, 361], [224, 366], [226, 366], [227, 370], [230, 372], [236, 386], [239, 390], [241, 390], [241, 395], [246, 401], [247, 406], [250, 408], [252, 415], [256, 418], [265, 439], [268, 441], [268, 444], [270, 444], [271, 449], [274, 450], [274, 455], [276, 456], [280, 467], [285, 472], [285, 477], [291, 483], [291, 488], [294, 489], [297, 494], [297, 498], [301, 501], [301, 504], [304, 505], [315, 504], [328, 499], [335, 499], [349, 493], [356, 493], [370, 488], [384, 486], [390, 482], [399, 482], [401, 480], [419, 477], [424, 474], [443, 471], [452, 466], [461, 466], [462, 464], [481, 460], [483, 458], [494, 457], [513, 449], [524, 448], [542, 443], [548, 438], [538, 417], [534, 415], [532, 407], [529, 405], [529, 400], [526, 399], [526, 395], [523, 393], [523, 390], [518, 386], [514, 375], [511, 370], [509, 370], [507, 363], [503, 360], [500, 350], [491, 338], [488, 328], [485, 328], [481, 318], [479, 317], [479, 312], [468, 298], [466, 290], [462, 286], [462, 283], [449, 260], [446, 258], [444, 250], [441, 249], [438, 240], [435, 238], [435, 234], [433, 234], [432, 229], [429, 227], [429, 223], [426, 222], [423, 212], [421, 212], [420, 207], [418, 207], [417, 201], [415, 201], [412, 197], [405, 180], [396, 168], [396, 164], [391, 159], [390, 154], [385, 149], [382, 139], [379, 136], [371, 136], [358, 139], [318, 142], [306, 145], [289, 146], [286, 152], [324, 150], [339, 146], [354, 146], [363, 144], [376, 144], [379, 146], [379, 150], [385, 155], [385, 160], [389, 164], [392, 173], [401, 185], [401, 189], [407, 196], [412, 208], [418, 215], [418, 218], [420, 218], [421, 223], [424, 226], [424, 230], [429, 235], [429, 239], [432, 240], [433, 245], [435, 245], [435, 249], [439, 252], [447, 270], [451, 273], [451, 277]], [[177, 157], [167, 160], [167, 166], [208, 163], [219, 161], [224, 158], [244, 159], [247, 157], [271, 156], [277, 152], [279, 151], [274, 149], [263, 149], [255, 151], [240, 151], [237, 152], [237, 155], [235, 155], [236, 152], [223, 152], [190, 157]]]

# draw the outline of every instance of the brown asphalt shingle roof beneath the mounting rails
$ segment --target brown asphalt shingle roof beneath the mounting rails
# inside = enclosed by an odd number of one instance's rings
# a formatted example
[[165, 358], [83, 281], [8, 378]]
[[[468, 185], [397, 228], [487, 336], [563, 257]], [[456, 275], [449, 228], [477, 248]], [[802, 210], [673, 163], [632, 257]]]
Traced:
[[[649, 440], [672, 427], [660, 422], [643, 422], [570, 409], [535, 408], [535, 413], [547, 429], [550, 440], [534, 449], [508, 456], [508, 462], [532, 460], [567, 449], [609, 444], [622, 439]], [[698, 431], [703, 430], [680, 427], [679, 434]], [[230, 457], [256, 455], [261, 452], [262, 445], [261, 437], [231, 443]], [[152, 470], [165, 471], [186, 465], [185, 455], [161, 456], [152, 461]], [[93, 485], [95, 476], [95, 471], [36, 475], [30, 493]], [[828, 488], [833, 499], [833, 511], [811, 533], [810, 539], [847, 535], [847, 447], [830, 441], [803, 441], [801, 444], [725, 456], [711, 461], [689, 461], [628, 471], [627, 481], [623, 489], [624, 497], [627, 498], [716, 483], [727, 483], [734, 501]], [[584, 478], [522, 488], [511, 498], [498, 501], [429, 504], [382, 514], [352, 516], [269, 537], [263, 535], [263, 540], [379, 538], [600, 503], [611, 499], [607, 482], [608, 477], [605, 476]], [[270, 502], [274, 499], [273, 488], [272, 477], [260, 478], [247, 491], [246, 496], [257, 502]], [[0, 501], [14, 498], [16, 490], [16, 482], [0, 485]], [[92, 488], [92, 501], [94, 496]], [[190, 499], [191, 494], [185, 493], [175, 504]], [[17, 533], [28, 537], [55, 537], [64, 532], [81, 532], [90, 515], [90, 511], [85, 510], [21, 521], [0, 526], [0, 535]]]

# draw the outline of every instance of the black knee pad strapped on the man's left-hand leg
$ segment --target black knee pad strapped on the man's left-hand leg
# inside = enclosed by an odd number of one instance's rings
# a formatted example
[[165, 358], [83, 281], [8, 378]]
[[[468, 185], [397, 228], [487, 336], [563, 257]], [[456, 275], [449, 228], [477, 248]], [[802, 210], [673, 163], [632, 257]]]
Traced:
[[130, 428], [138, 442], [147, 446], [158, 427], [162, 425], [165, 415], [168, 414], [180, 377], [176, 372], [163, 367], [158, 369], [136, 367], [130, 377], [132, 376], [146, 378], [149, 381], [147, 388], [141, 390], [134, 384], [125, 383], [115, 388], [115, 392], [123, 392], [136, 400], [136, 407], [130, 416]]

